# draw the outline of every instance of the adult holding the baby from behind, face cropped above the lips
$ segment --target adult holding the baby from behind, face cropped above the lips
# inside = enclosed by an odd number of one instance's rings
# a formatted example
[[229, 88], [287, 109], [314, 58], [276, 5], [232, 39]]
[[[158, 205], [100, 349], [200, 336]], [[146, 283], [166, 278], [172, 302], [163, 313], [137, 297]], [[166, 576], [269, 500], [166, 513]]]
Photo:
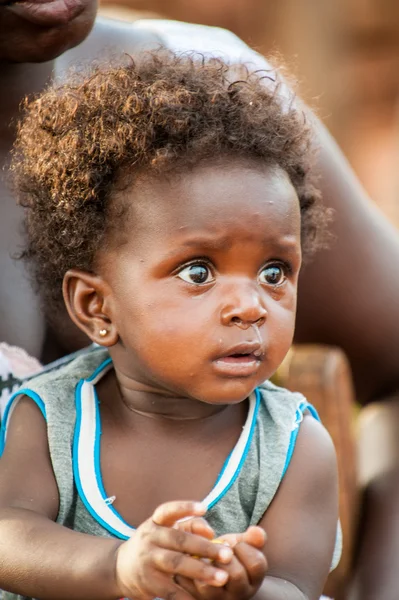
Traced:
[[[96, 56], [105, 45], [134, 54], [143, 45], [162, 40], [159, 31], [146, 29], [145, 23], [137, 27], [99, 21], [88, 35], [95, 18], [92, 0], [11, 6], [0, 2], [2, 164], [8, 160], [21, 99], [39, 92], [72, 58]], [[74, 46], [72, 55], [64, 54]], [[399, 388], [399, 238], [369, 203], [317, 121], [315, 143], [321, 145], [317, 159], [320, 187], [326, 204], [336, 210], [333, 231], [337, 241], [302, 273], [296, 340], [341, 346], [349, 357], [358, 397], [367, 402]], [[51, 360], [86, 340], [77, 337], [68, 323], [57, 331], [46, 329], [22, 266], [11, 258], [19, 246], [21, 211], [4, 181], [0, 198], [0, 340]], [[313, 285], [315, 280], [319, 285]], [[396, 597], [399, 530], [395, 530], [394, 516], [399, 506], [399, 476], [379, 484], [377, 495], [369, 495], [378, 512], [371, 503], [364, 531], [364, 548], [370, 551], [363, 553], [358, 570], [362, 600]]]

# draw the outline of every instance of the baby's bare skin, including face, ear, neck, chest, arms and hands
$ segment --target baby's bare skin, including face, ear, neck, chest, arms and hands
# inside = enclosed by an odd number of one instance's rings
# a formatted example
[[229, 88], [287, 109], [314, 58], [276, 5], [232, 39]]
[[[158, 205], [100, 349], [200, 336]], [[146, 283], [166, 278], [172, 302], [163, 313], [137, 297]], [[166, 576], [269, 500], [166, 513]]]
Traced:
[[68, 271], [64, 297], [113, 358], [97, 386], [101, 469], [115, 509], [137, 530], [120, 542], [54, 524], [46, 426], [24, 399], [0, 463], [0, 586], [53, 600], [316, 600], [338, 491], [331, 440], [311, 417], [259, 526], [225, 532], [233, 549], [211, 543], [206, 524], [174, 527], [204, 513], [185, 499], [213, 487], [248, 396], [290, 347], [301, 265], [296, 192], [278, 168], [224, 162], [139, 180], [125, 194], [135, 206], [122, 245], [109, 240], [94, 274]]

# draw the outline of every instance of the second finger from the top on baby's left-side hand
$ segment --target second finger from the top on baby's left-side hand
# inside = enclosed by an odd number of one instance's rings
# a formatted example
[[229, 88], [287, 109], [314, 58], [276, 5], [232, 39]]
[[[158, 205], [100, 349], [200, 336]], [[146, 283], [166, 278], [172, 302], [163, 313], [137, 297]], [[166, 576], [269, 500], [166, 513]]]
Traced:
[[211, 541], [179, 529], [159, 527], [153, 533], [153, 543], [161, 548], [175, 550], [200, 558], [209, 558], [222, 564], [227, 564], [233, 558], [233, 551], [223, 544], [213, 544]]

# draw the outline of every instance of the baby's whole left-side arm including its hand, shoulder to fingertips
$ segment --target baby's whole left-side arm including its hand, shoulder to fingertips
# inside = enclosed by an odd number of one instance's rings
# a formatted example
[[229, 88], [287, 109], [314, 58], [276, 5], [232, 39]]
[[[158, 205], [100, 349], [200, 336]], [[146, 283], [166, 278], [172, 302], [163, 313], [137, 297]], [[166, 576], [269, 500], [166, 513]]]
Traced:
[[58, 505], [46, 424], [24, 398], [11, 417], [0, 460], [0, 589], [42, 600], [147, 600], [170, 594], [192, 600], [173, 575], [226, 583], [224, 571], [189, 555], [223, 563], [231, 550], [171, 527], [179, 518], [203, 514], [194, 502], [162, 505], [127, 542], [54, 523]]

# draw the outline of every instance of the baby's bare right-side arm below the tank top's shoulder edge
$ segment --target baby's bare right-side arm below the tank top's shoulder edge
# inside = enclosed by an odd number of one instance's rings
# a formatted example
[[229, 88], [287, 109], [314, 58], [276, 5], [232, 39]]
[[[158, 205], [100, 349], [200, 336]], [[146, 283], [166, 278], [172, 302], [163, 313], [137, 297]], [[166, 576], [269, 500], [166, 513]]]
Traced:
[[256, 600], [318, 599], [331, 567], [337, 521], [334, 447], [324, 427], [306, 416], [291, 464], [260, 523], [268, 538], [268, 573]]

